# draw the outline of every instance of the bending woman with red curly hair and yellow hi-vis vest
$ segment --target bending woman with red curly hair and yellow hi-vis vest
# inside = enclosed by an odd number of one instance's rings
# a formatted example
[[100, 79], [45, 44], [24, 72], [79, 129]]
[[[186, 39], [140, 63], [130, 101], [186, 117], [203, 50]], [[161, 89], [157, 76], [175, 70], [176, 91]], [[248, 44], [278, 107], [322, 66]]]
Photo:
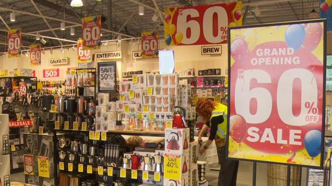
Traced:
[[[200, 153], [204, 153], [213, 140], [217, 146], [220, 164], [218, 186], [236, 186], [238, 161], [226, 160], [227, 106], [202, 98], [196, 103], [196, 113], [203, 118], [205, 123], [198, 135], [198, 143], [201, 145]], [[202, 136], [208, 127], [211, 127], [210, 137], [202, 146]]]

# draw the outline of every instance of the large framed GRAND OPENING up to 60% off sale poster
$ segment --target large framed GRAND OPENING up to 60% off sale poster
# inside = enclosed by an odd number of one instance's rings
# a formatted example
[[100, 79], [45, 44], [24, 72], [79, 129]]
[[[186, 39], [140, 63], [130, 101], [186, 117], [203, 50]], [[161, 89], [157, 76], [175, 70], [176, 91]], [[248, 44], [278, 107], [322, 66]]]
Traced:
[[229, 32], [228, 157], [322, 167], [325, 20]]

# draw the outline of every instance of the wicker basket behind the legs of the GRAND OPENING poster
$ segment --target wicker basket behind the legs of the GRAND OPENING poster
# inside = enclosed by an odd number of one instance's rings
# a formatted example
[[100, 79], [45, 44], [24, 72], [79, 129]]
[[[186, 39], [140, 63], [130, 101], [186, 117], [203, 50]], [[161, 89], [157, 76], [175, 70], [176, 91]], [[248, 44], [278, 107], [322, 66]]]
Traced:
[[[268, 164], [268, 186], [287, 185], [287, 166]], [[301, 167], [291, 166], [291, 186], [301, 185]]]

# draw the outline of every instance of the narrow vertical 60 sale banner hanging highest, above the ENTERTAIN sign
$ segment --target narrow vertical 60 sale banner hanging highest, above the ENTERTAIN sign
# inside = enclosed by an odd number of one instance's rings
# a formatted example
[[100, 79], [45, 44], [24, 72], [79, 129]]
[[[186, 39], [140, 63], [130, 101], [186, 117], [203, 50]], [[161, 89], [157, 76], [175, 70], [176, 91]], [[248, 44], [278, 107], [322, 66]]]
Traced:
[[101, 45], [100, 15], [82, 18], [83, 49], [99, 49]]

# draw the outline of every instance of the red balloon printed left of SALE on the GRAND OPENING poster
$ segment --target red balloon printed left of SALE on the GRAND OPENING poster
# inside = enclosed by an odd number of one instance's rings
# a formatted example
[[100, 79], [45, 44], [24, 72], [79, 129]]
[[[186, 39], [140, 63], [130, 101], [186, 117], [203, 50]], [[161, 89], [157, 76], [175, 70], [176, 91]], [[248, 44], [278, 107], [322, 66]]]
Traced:
[[241, 143], [247, 131], [247, 122], [245, 118], [240, 115], [233, 115], [229, 119], [229, 134], [237, 143]]

